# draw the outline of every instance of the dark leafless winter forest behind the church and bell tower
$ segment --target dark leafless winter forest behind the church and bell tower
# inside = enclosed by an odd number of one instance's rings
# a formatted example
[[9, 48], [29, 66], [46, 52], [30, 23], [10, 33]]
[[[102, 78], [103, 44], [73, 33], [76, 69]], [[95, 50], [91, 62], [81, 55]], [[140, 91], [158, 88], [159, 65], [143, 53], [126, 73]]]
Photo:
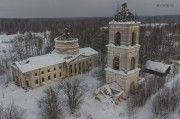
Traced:
[[[92, 47], [100, 53], [99, 62], [103, 68], [106, 64], [106, 44], [108, 44], [108, 22], [113, 18], [38, 18], [38, 19], [0, 19], [1, 34], [21, 34], [14, 38], [13, 49], [3, 52], [5, 58], [0, 59], [0, 71], [9, 70], [8, 64], [24, 60], [28, 57], [43, 55], [54, 49], [54, 38], [63, 34], [68, 28], [71, 35], [79, 39], [79, 46]], [[150, 16], [138, 17], [143, 24], [168, 23], [164, 26], [140, 27], [140, 60], [143, 72], [147, 60], [165, 61], [178, 58], [180, 54], [180, 16]], [[50, 34], [46, 34], [49, 31]], [[43, 38], [48, 44], [42, 45], [44, 40], [34, 33], [43, 32]], [[168, 61], [167, 61], [168, 62]], [[5, 70], [6, 69], [6, 70]]]

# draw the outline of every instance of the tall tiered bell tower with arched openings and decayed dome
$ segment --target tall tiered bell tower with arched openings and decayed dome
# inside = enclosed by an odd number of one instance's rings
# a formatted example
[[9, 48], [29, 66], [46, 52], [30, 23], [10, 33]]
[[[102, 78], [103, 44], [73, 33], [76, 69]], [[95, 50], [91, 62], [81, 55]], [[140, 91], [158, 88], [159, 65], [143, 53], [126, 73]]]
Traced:
[[109, 22], [106, 83], [118, 83], [124, 98], [138, 86], [139, 27], [140, 22], [129, 12], [126, 3], [114, 20]]

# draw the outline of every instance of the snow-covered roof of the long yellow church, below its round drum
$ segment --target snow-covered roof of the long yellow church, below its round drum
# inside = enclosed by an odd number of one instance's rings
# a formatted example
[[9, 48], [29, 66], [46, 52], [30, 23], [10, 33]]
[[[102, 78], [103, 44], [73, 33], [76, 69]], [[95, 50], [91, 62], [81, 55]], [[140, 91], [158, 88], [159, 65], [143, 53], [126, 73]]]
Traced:
[[[22, 73], [25, 73], [64, 62], [69, 63], [80, 55], [91, 56], [94, 54], [98, 54], [98, 52], [90, 47], [87, 47], [79, 49], [79, 53], [77, 55], [58, 54], [56, 52], [52, 52], [42, 56], [30, 57], [23, 61], [16, 61], [15, 64]], [[71, 57], [67, 58], [69, 56]]]

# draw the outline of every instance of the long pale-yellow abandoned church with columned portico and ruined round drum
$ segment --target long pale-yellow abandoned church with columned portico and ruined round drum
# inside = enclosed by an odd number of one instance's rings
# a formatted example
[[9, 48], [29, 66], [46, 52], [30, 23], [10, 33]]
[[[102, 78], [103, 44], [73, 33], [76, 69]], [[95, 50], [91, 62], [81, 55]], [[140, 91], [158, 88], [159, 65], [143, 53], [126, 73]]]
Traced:
[[34, 89], [88, 72], [97, 62], [98, 52], [90, 47], [79, 48], [78, 39], [65, 29], [62, 36], [55, 38], [55, 50], [51, 53], [14, 62], [12, 78], [22, 88]]

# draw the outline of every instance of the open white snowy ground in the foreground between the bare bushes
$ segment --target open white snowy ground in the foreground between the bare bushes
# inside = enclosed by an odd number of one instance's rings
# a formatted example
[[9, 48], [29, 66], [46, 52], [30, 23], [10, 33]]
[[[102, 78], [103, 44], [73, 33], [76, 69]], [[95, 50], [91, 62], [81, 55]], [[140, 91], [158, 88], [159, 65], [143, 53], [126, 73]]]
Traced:
[[[95, 68], [87, 74], [76, 76], [82, 80], [82, 85], [85, 90], [84, 101], [80, 106], [80, 116], [78, 118], [88, 119], [88, 117], [92, 117], [92, 119], [129, 119], [126, 113], [126, 101], [123, 101], [119, 105], [115, 105], [111, 103], [110, 100], [99, 102], [95, 99], [94, 91], [97, 87], [102, 85], [102, 83], [98, 81], [97, 77], [95, 76], [97, 71], [98, 68]], [[180, 74], [175, 76], [175, 78], [170, 79], [168, 82], [166, 82], [165, 85], [170, 87], [176, 80], [180, 80]], [[28, 92], [25, 92], [25, 90], [22, 88], [17, 87], [13, 82], [11, 82], [8, 87], [0, 85], [0, 102], [4, 106], [14, 102], [19, 107], [25, 109], [26, 119], [39, 119], [37, 102], [40, 99], [43, 90], [45, 90], [50, 85], [54, 86], [56, 84], [56, 82], [52, 82], [51, 84], [39, 87], [34, 90], [29, 90]], [[155, 95], [157, 95], [157, 93]], [[151, 96], [144, 107], [138, 109], [136, 114], [137, 119], [148, 119], [148, 117], [152, 115], [151, 101], [155, 95]], [[65, 119], [77, 118], [70, 114], [66, 102], [64, 102], [62, 108], [63, 117]], [[179, 115], [175, 113], [171, 115], [171, 117], [171, 119], [178, 119]]]

